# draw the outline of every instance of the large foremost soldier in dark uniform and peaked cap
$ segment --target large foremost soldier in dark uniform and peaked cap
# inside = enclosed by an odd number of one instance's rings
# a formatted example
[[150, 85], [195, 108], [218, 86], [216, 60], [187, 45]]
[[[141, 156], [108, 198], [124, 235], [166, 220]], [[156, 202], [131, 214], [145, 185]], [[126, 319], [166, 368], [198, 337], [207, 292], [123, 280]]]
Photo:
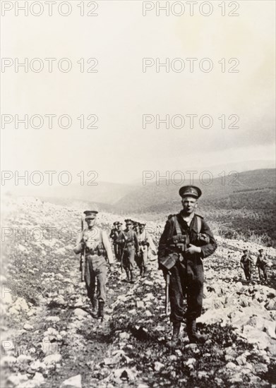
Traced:
[[[179, 195], [183, 210], [168, 218], [158, 250], [160, 269], [164, 274], [170, 274], [169, 301], [173, 334], [169, 346], [176, 346], [184, 316], [189, 341], [205, 341], [196, 332], [196, 318], [200, 317], [203, 304], [203, 259], [212, 255], [217, 248], [208, 224], [196, 214], [200, 188], [183, 186]], [[184, 296], [187, 300], [185, 314]]]

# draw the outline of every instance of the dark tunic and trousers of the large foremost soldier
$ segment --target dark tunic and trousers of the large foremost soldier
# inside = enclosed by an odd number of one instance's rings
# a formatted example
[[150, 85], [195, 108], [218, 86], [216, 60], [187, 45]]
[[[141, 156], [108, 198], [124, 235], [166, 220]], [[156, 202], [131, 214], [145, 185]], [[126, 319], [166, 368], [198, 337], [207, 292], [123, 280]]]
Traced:
[[[188, 236], [189, 243], [200, 246], [200, 253], [181, 253], [181, 260], [170, 269], [169, 301], [171, 305], [170, 320], [173, 323], [181, 322], [184, 318], [184, 297], [186, 296], [187, 310], [186, 318], [194, 320], [200, 317], [203, 305], [203, 261], [202, 259], [212, 255], [217, 248], [217, 243], [208, 224], [203, 217], [194, 214], [191, 224], [188, 225], [183, 218], [183, 213], [176, 214], [181, 234]], [[198, 217], [201, 218], [200, 231], [198, 231]], [[210, 242], [201, 245], [198, 242], [198, 233], [206, 234]], [[175, 252], [171, 247], [172, 236], [177, 234], [174, 217], [170, 217], [160, 237], [158, 258], [166, 257], [169, 253]]]

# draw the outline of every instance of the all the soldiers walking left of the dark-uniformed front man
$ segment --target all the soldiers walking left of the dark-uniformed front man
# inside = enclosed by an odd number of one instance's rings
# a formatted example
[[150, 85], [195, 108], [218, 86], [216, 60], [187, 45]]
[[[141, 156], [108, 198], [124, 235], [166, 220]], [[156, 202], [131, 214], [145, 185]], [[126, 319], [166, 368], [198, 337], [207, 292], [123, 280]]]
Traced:
[[[114, 257], [112, 244], [106, 231], [101, 229], [96, 222], [97, 211], [86, 210], [85, 222], [87, 227], [78, 234], [74, 253], [80, 253], [80, 269], [85, 281], [88, 298], [92, 303], [92, 309], [97, 310], [97, 317], [104, 318], [104, 304], [106, 302], [107, 262], [109, 270], [114, 271]], [[114, 246], [114, 256], [121, 262], [121, 269], [126, 271], [126, 281], [135, 283], [135, 266], [138, 265], [140, 275], [145, 276], [148, 269], [149, 250], [156, 254], [155, 245], [151, 236], [145, 230], [145, 223], [133, 222], [126, 219], [126, 229], [122, 223], [114, 222], [114, 227], [109, 235]], [[97, 289], [97, 292], [95, 293]]]

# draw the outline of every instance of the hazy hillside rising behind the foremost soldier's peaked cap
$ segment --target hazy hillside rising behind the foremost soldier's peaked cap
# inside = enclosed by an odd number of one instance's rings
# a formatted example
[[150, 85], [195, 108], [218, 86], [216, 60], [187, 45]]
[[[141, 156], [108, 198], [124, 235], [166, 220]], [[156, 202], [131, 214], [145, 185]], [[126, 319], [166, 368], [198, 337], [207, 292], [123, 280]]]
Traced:
[[[185, 183], [178, 184], [177, 182], [166, 185], [165, 181], [160, 181], [160, 185], [156, 183], [148, 183], [145, 186], [136, 188], [131, 193], [126, 194], [123, 198], [114, 203], [117, 209], [122, 211], [132, 212], [159, 212], [160, 208], [164, 210], [179, 207], [181, 198], [178, 191]], [[190, 182], [187, 181], [186, 184]], [[203, 191], [203, 197], [200, 199], [201, 205], [213, 205], [217, 207], [219, 204], [222, 207], [231, 207], [233, 202], [235, 207], [239, 207], [239, 199], [241, 207], [260, 207], [261, 204], [256, 204], [256, 200], [260, 200], [260, 190], [265, 190], [265, 202], [270, 204], [275, 198], [275, 169], [259, 169], [253, 171], [245, 171], [237, 176], [227, 176], [225, 181], [222, 177], [214, 178], [210, 185], [204, 185], [200, 181], [194, 181], [193, 184], [198, 186]], [[258, 191], [258, 193], [253, 193]], [[245, 195], [242, 193], [246, 193]], [[251, 193], [251, 194], [250, 194]], [[230, 198], [230, 199], [229, 199]], [[247, 202], [247, 199], [251, 201]], [[269, 198], [269, 200], [268, 200]], [[200, 205], [200, 206], [201, 206]]]

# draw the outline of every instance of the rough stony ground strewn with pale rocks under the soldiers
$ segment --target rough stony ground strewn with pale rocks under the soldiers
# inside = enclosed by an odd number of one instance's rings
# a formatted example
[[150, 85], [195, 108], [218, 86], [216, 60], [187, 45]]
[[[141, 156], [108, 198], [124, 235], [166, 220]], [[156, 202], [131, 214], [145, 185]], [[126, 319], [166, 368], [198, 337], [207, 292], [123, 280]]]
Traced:
[[[239, 267], [241, 250], [256, 257], [260, 245], [217, 238], [215, 255], [204, 260], [204, 310], [198, 319], [208, 341], [189, 344], [183, 325], [181, 343], [171, 349], [156, 256], [134, 285], [116, 265], [107, 284], [106, 320], [100, 323], [72, 252], [80, 210], [34, 198], [10, 199], [8, 210], [2, 224], [1, 388], [276, 384], [275, 249], [265, 248], [268, 283], [258, 281], [255, 269], [248, 284]], [[115, 219], [100, 214], [99, 222], [110, 229]]]

